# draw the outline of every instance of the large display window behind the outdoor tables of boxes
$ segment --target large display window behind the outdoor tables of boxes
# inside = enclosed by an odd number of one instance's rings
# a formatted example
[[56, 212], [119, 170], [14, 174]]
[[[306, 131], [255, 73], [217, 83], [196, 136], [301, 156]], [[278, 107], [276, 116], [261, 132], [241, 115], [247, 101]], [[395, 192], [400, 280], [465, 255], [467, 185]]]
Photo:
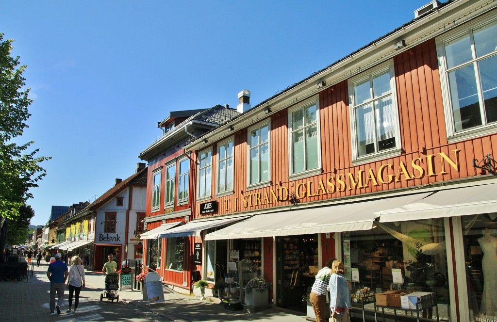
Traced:
[[[444, 220], [376, 223], [372, 230], [342, 233], [345, 275], [352, 294], [410, 290], [433, 293], [440, 321], [450, 320]], [[373, 304], [365, 310], [373, 311]], [[391, 311], [391, 312], [390, 312]], [[385, 313], [394, 313], [385, 310]], [[436, 320], [436, 310], [420, 314]]]

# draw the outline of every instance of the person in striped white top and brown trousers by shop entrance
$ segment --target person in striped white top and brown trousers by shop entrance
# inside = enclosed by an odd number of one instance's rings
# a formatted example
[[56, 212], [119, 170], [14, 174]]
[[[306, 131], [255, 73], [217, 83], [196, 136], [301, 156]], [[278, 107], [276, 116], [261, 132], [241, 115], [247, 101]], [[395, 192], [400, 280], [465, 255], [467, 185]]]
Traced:
[[316, 274], [314, 284], [311, 288], [309, 301], [312, 304], [314, 313], [316, 314], [316, 322], [325, 322], [327, 320], [327, 303], [329, 301], [328, 285], [331, 276], [331, 264], [335, 259], [330, 258], [325, 267], [320, 269]]

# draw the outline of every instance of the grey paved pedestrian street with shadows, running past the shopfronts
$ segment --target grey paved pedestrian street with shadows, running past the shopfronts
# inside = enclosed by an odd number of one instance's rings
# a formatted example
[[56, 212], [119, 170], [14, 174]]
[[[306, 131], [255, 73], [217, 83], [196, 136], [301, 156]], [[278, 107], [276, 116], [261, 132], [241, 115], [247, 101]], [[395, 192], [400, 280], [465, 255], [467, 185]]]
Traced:
[[[172, 291], [164, 294], [166, 302], [152, 304], [142, 300], [140, 291], [120, 291], [119, 302], [111, 303], [100, 294], [104, 288], [104, 276], [98, 272], [85, 271], [86, 287], [80, 295], [77, 315], [66, 314], [68, 291], [60, 316], [49, 314], [49, 281], [46, 276], [48, 264], [34, 266], [33, 278], [22, 281], [0, 282], [0, 314], [5, 321], [281, 321], [306, 322], [304, 316], [282, 309], [269, 309], [244, 314], [232, 311], [216, 302], [200, 300]], [[217, 300], [217, 299], [216, 299]]]

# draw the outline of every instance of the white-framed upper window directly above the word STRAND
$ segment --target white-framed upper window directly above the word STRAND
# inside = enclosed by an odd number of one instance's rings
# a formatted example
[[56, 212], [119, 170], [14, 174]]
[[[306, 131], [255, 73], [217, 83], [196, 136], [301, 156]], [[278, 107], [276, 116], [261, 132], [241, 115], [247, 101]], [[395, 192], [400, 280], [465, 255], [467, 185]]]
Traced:
[[248, 185], [269, 181], [269, 123], [248, 130]]

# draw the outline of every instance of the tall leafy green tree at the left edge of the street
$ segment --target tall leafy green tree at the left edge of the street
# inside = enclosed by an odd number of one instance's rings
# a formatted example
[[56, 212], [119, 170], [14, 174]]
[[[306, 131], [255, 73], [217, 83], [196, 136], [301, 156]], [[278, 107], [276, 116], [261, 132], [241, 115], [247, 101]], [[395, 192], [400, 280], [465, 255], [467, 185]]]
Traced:
[[[0, 33], [0, 247], [7, 240], [9, 220], [22, 216], [20, 210], [32, 198], [30, 188], [37, 187], [46, 171], [40, 166], [47, 157], [36, 157], [39, 149], [27, 151], [33, 141], [17, 145], [14, 138], [22, 135], [31, 116], [28, 106], [29, 88], [22, 77], [26, 66], [19, 66], [19, 57], [11, 57], [13, 40], [3, 40]], [[3, 261], [0, 252], [0, 261]]]

